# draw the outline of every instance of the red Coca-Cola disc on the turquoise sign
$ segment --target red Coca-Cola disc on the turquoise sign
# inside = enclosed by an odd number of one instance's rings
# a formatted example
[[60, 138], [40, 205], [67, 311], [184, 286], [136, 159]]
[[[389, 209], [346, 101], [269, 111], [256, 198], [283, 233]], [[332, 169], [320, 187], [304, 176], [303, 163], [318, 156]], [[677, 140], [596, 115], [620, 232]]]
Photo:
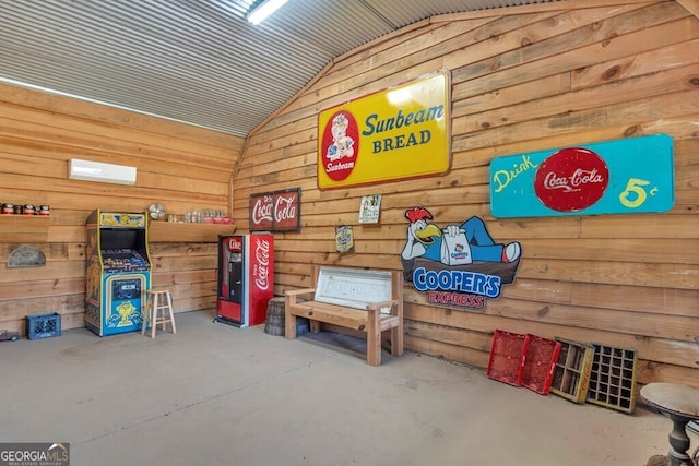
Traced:
[[561, 148], [536, 170], [534, 190], [538, 200], [557, 212], [577, 212], [597, 202], [609, 183], [607, 164], [594, 152]]

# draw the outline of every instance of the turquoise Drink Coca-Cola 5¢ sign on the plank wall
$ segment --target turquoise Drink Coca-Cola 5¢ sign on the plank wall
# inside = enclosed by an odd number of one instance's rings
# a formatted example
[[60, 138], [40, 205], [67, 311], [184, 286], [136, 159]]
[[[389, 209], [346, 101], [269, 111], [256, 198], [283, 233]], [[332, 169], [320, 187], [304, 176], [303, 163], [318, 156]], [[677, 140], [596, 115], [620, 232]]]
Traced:
[[495, 217], [640, 214], [675, 203], [666, 134], [498, 157], [490, 163]]

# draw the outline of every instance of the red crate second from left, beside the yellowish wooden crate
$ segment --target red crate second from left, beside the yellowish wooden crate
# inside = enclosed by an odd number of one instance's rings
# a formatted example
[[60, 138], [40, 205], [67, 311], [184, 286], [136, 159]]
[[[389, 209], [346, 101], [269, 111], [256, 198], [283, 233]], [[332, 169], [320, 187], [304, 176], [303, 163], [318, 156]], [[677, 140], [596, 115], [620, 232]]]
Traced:
[[547, 395], [554, 380], [560, 342], [526, 334], [529, 345], [524, 355], [522, 385], [542, 395]]

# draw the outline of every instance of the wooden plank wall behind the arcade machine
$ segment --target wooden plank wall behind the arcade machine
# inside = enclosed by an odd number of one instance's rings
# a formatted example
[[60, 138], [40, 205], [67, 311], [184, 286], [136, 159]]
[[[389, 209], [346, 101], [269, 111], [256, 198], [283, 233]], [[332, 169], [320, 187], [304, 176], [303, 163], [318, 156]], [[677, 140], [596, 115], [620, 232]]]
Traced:
[[[242, 143], [214, 131], [0, 84], [0, 203], [51, 208], [49, 220], [27, 218], [22, 225], [0, 216], [0, 328], [24, 334], [24, 316], [43, 312], [62, 314], [63, 328], [83, 326], [88, 213], [143, 212], [154, 201], [179, 214], [192, 207], [229, 210], [230, 175]], [[137, 183], [69, 180], [70, 158], [135, 166]], [[171, 235], [177, 237], [177, 225]], [[150, 244], [153, 284], [170, 286], [176, 311], [214, 307], [216, 235], [210, 242], [161, 238], [167, 242]], [[7, 268], [8, 255], [21, 244], [39, 249], [46, 266]]]

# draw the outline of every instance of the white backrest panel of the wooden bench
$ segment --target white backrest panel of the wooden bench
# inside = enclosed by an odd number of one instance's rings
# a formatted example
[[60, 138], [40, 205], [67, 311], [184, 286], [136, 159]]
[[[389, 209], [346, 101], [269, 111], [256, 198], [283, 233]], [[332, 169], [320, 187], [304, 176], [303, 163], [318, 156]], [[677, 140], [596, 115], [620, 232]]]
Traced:
[[[367, 303], [395, 299], [390, 271], [321, 266], [317, 272], [318, 302], [366, 309]], [[382, 313], [390, 309], [381, 309]]]

